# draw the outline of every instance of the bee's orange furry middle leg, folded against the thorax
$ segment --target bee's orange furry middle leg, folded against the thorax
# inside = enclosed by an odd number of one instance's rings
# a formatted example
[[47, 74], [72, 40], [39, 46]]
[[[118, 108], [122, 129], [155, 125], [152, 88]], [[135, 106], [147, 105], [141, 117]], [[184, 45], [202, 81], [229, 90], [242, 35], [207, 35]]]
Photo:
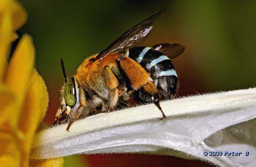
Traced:
[[111, 110], [113, 110], [118, 102], [118, 85], [119, 82], [116, 78], [116, 76], [114, 76], [113, 72], [111, 71], [111, 69], [108, 66], [105, 66], [104, 68], [104, 74], [105, 74], [105, 79], [106, 79], [106, 84], [108, 86], [108, 88], [110, 88], [109, 94], [108, 94], [108, 108], [107, 108], [107, 112], [110, 112]]

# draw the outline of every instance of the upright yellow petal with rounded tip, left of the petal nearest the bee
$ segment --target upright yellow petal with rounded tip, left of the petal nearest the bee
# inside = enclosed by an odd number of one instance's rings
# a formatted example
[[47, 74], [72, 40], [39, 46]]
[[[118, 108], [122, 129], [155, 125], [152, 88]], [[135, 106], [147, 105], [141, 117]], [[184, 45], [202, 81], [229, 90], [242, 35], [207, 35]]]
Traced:
[[17, 98], [16, 103], [10, 106], [7, 111], [0, 111], [0, 117], [9, 115], [8, 124], [12, 128], [17, 127], [18, 118], [20, 118], [22, 103], [28, 90], [28, 83], [34, 66], [34, 59], [35, 50], [32, 39], [29, 35], [23, 35], [14, 51], [4, 78], [4, 83], [9, 86], [10, 91]]

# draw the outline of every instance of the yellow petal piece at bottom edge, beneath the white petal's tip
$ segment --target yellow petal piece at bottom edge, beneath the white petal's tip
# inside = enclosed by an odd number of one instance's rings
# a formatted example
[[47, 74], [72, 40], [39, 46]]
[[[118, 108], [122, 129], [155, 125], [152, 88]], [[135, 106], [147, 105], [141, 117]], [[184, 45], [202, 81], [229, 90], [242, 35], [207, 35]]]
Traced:
[[64, 159], [63, 158], [52, 158], [46, 160], [31, 160], [30, 166], [34, 167], [43, 167], [43, 166], [55, 166], [61, 167], [63, 166]]

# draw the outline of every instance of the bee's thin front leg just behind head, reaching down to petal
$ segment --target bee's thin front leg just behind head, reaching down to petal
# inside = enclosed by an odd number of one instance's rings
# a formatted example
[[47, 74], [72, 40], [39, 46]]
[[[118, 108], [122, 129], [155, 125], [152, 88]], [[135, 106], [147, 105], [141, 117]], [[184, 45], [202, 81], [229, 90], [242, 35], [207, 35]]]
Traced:
[[82, 88], [82, 86], [79, 86], [79, 103], [80, 103], [80, 106], [77, 109], [75, 109], [74, 112], [72, 112], [72, 116], [68, 122], [68, 127], [66, 131], [69, 131], [70, 126], [73, 124], [74, 121], [76, 121], [79, 118], [79, 116], [82, 113], [82, 109], [84, 109], [84, 106], [86, 106], [85, 91]]

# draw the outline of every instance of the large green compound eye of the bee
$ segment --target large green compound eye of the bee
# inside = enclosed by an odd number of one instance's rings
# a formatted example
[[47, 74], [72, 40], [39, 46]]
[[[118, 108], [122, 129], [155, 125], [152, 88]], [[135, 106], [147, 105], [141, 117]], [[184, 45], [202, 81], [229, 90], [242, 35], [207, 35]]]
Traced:
[[73, 106], [76, 103], [75, 80], [68, 79], [64, 88], [64, 98], [68, 106]]

